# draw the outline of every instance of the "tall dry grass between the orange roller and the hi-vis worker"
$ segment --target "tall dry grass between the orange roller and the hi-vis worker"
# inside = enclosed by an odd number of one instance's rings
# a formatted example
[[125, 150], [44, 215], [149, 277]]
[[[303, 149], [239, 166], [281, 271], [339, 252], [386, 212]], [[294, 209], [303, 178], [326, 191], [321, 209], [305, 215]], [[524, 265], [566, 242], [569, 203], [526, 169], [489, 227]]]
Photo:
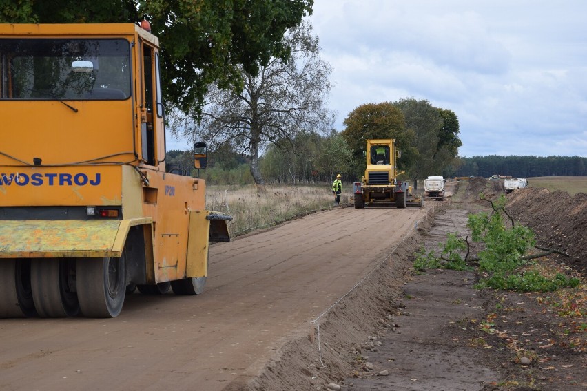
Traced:
[[[341, 204], [348, 201], [342, 195]], [[313, 211], [333, 206], [328, 184], [321, 186], [267, 185], [264, 189], [249, 186], [209, 186], [206, 208], [231, 215], [229, 229], [233, 235], [243, 235], [255, 229], [267, 228]]]

